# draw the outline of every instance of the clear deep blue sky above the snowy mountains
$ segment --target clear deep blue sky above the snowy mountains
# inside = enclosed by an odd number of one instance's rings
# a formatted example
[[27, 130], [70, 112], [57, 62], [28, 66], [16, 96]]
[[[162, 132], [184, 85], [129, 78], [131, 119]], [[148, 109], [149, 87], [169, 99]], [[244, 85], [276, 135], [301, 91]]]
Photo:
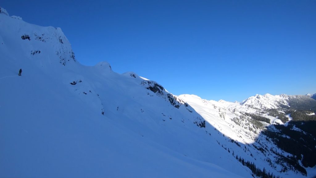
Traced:
[[[0, 0], [60, 27], [83, 65], [133, 71], [169, 92], [242, 101], [316, 92], [316, 0]], [[0, 27], [1, 28], [1, 27]]]

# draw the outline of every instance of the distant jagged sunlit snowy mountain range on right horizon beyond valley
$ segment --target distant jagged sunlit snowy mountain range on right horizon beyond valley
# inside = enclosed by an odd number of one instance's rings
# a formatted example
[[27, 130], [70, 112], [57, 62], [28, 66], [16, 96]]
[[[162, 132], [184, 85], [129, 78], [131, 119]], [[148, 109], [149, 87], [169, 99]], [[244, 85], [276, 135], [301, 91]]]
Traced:
[[241, 105], [248, 105], [258, 109], [277, 109], [289, 108], [294, 109], [316, 109], [316, 100], [308, 95], [258, 95], [249, 97], [241, 102]]

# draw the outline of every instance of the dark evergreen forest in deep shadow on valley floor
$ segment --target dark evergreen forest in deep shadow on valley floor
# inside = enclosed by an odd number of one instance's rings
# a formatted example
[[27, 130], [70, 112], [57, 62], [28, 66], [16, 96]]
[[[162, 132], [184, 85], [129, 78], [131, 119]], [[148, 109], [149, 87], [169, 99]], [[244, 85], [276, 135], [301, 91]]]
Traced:
[[293, 111], [291, 113], [293, 119], [288, 126], [274, 125], [280, 132], [269, 129], [263, 132], [279, 148], [295, 156], [295, 159], [285, 159], [285, 161], [305, 175], [306, 170], [300, 166], [298, 160], [301, 160], [304, 167], [316, 165], [316, 116], [307, 113], [310, 111]]

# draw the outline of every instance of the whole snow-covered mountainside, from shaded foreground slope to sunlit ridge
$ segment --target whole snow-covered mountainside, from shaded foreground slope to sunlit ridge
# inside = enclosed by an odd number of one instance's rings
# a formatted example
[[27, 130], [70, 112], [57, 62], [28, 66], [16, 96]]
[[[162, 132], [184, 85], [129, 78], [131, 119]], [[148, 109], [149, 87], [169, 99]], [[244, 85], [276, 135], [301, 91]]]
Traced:
[[315, 175], [262, 134], [285, 123], [271, 111], [175, 96], [107, 62], [83, 66], [60, 28], [3, 8], [0, 27], [0, 177]]

